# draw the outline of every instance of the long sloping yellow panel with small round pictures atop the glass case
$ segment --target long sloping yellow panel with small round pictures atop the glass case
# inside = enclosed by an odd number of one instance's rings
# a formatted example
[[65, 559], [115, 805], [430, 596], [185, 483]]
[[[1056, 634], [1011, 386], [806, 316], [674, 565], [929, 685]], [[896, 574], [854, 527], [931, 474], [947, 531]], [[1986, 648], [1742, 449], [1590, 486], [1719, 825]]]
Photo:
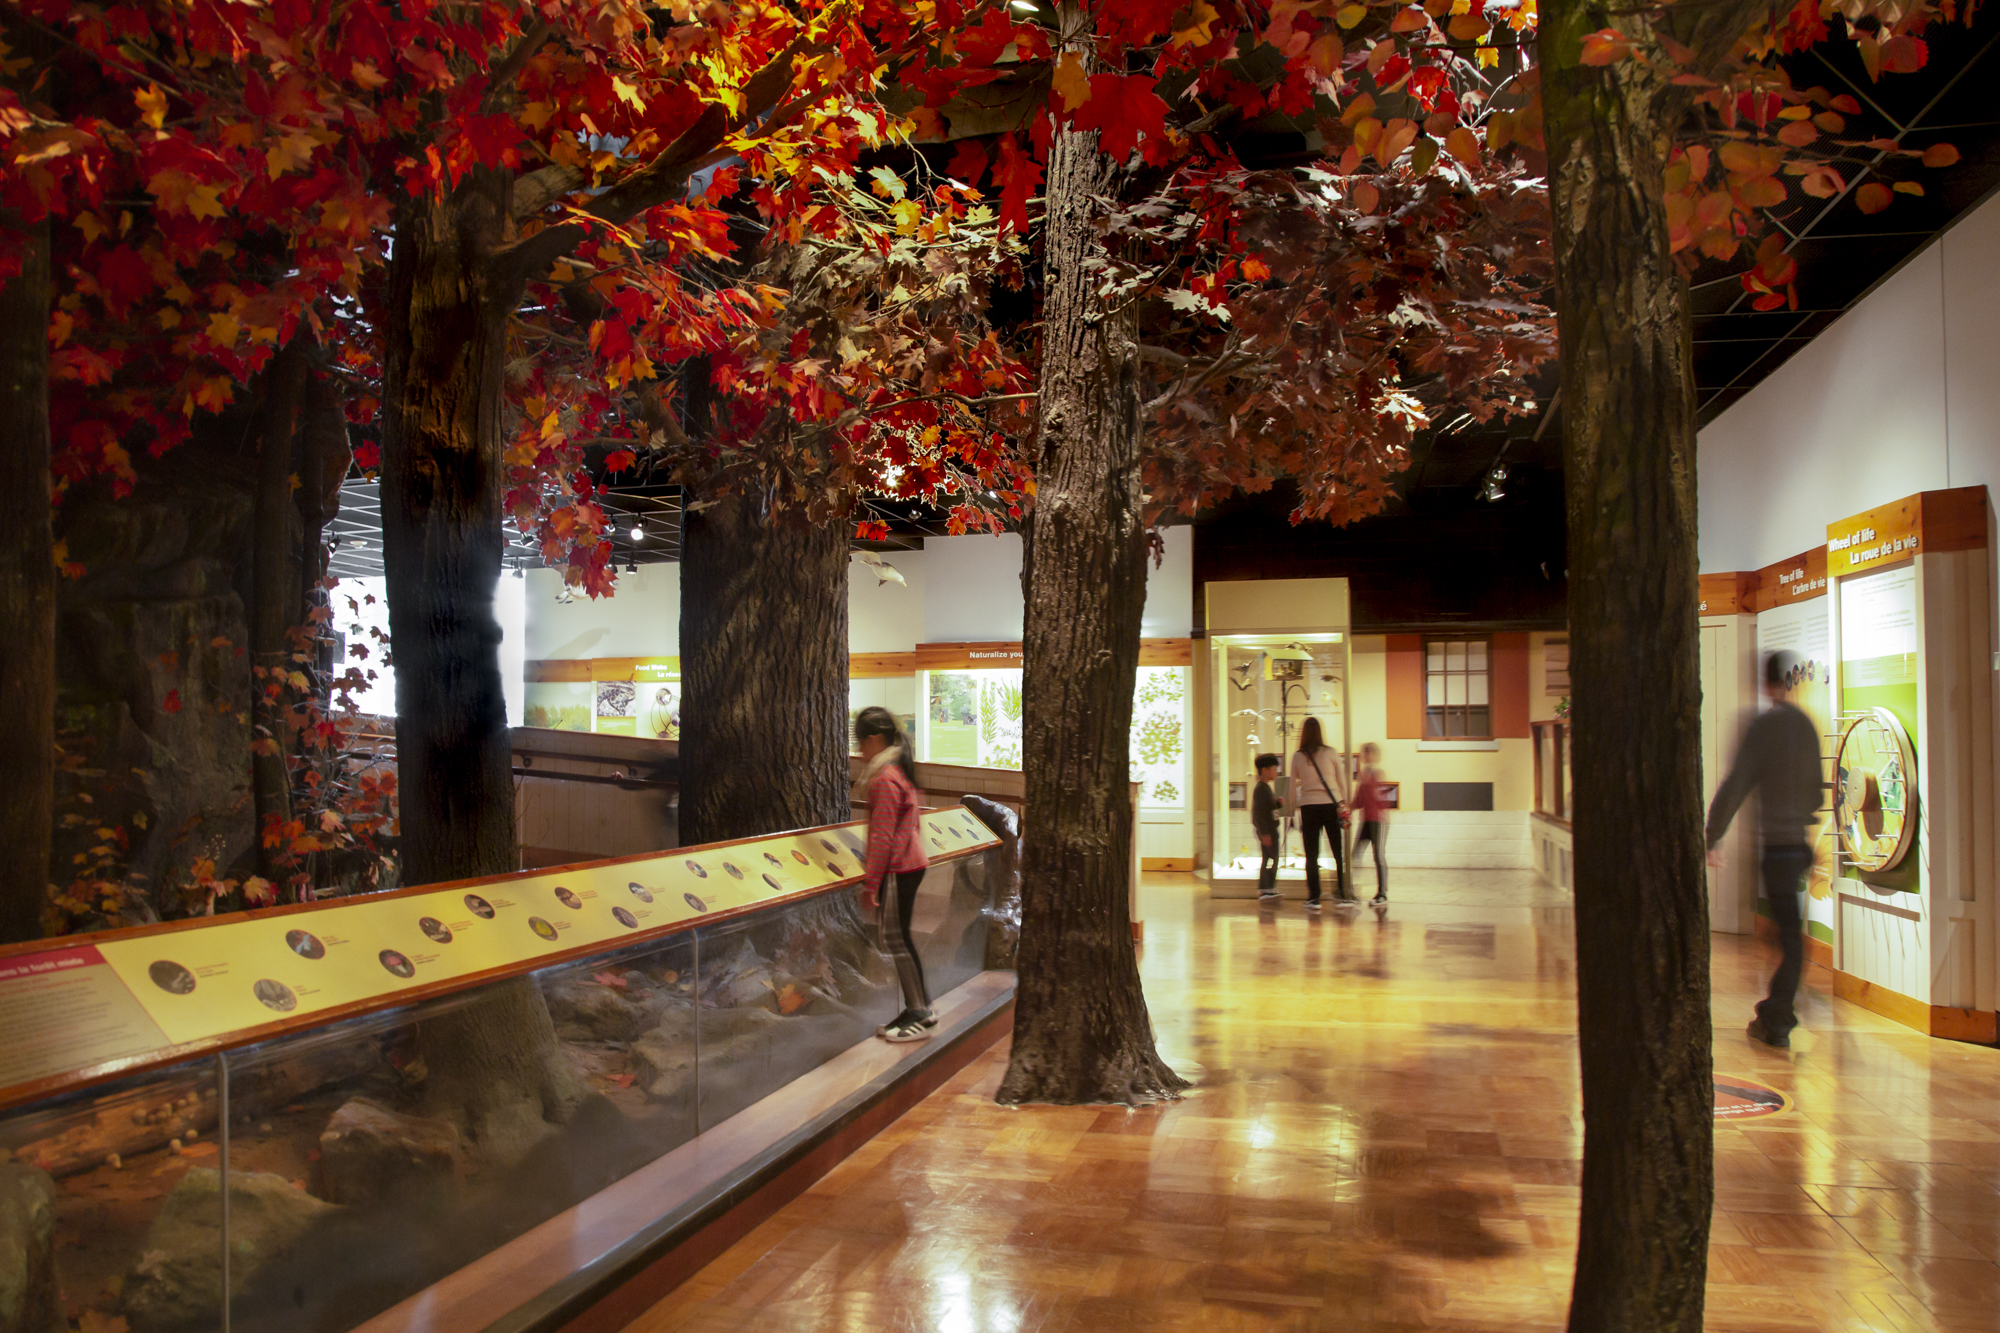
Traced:
[[[970, 811], [926, 811], [934, 859], [996, 847]], [[0, 1087], [88, 1073], [272, 1023], [398, 1003], [856, 883], [866, 825], [336, 899], [0, 957]]]

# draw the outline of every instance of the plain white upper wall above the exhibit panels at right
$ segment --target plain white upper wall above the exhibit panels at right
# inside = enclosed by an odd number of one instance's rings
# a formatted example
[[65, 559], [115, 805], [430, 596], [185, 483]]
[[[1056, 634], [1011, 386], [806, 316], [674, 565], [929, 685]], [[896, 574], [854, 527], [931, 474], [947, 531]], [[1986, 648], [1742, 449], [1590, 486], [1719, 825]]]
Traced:
[[1702, 570], [1784, 560], [1828, 522], [1918, 490], [2000, 490], [1996, 358], [2000, 198], [1702, 430]]

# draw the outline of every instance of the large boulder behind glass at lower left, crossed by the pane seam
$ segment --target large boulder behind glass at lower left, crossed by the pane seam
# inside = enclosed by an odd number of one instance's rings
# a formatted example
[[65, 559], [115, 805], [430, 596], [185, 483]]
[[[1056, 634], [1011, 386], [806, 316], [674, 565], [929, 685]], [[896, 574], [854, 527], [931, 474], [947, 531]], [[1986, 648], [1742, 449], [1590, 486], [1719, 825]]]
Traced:
[[[230, 1291], [290, 1255], [314, 1223], [334, 1213], [290, 1181], [264, 1171], [230, 1173]], [[194, 1167], [168, 1193], [124, 1283], [124, 1315], [138, 1333], [210, 1329], [222, 1311], [222, 1177]]]

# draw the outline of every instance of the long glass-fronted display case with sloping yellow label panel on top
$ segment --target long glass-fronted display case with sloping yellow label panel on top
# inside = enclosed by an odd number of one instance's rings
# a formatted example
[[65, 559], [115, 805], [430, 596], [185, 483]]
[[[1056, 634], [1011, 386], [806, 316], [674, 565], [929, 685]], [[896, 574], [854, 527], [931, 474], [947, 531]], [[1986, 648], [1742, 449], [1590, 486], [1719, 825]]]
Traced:
[[[946, 995], [998, 839], [924, 825]], [[898, 995], [862, 837], [0, 951], [0, 1207], [30, 1219], [0, 1287], [50, 1315], [20, 1327], [342, 1333], [868, 1041]]]

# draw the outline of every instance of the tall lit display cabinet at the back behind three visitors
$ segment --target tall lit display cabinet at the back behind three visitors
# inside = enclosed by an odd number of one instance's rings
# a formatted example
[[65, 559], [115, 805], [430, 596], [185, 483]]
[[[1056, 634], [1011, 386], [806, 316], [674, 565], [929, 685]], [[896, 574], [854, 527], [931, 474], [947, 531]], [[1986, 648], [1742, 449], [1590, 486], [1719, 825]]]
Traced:
[[[1290, 765], [1308, 717], [1320, 719], [1330, 753], [1328, 777], [1352, 775], [1352, 632], [1346, 578], [1266, 578], [1210, 582], [1208, 707], [1210, 707], [1210, 893], [1256, 893], [1258, 839], [1250, 827], [1256, 757], [1272, 753]], [[1334, 777], [1338, 783], [1340, 779]], [[1278, 783], [1284, 797], [1284, 781]], [[1280, 887], [1302, 893], [1304, 851], [1298, 831], [1282, 831]], [[1322, 851], [1322, 873], [1332, 857]]]

